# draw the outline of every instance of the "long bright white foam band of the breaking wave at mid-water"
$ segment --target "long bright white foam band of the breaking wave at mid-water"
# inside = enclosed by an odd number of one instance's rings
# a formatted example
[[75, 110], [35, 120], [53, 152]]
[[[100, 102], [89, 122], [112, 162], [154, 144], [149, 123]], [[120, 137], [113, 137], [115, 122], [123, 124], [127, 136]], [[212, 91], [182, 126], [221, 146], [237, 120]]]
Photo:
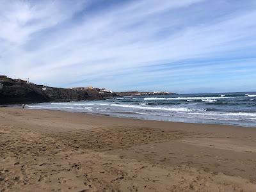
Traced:
[[148, 109], [148, 110], [160, 110], [160, 111], [193, 111], [193, 109], [188, 108], [160, 108], [160, 107], [143, 107], [127, 104], [111, 104], [111, 106], [116, 106], [120, 108], [137, 108], [137, 109]]

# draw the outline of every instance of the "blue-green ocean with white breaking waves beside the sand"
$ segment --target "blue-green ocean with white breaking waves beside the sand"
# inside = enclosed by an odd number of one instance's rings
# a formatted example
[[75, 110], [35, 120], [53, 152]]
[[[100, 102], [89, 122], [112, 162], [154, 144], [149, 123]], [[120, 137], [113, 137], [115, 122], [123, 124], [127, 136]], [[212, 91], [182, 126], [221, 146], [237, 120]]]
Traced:
[[106, 100], [27, 104], [26, 108], [145, 120], [256, 127], [256, 92], [138, 95]]

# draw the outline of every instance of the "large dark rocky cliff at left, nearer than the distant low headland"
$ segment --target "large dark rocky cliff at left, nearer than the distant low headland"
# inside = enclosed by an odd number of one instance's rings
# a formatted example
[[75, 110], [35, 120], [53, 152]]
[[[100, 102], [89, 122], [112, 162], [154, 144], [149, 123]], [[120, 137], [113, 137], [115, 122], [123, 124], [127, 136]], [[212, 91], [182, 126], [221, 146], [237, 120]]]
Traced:
[[10, 78], [0, 79], [0, 104], [95, 100], [115, 96], [115, 93], [102, 93], [97, 88], [91, 90], [71, 90], [24, 83]]

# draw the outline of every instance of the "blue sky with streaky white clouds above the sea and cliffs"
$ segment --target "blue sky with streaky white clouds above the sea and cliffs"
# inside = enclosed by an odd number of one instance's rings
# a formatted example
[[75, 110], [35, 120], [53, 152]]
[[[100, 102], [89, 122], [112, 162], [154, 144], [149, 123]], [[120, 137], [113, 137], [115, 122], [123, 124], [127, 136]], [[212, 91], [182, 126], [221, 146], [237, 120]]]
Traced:
[[47, 86], [256, 91], [255, 0], [0, 0], [0, 74]]

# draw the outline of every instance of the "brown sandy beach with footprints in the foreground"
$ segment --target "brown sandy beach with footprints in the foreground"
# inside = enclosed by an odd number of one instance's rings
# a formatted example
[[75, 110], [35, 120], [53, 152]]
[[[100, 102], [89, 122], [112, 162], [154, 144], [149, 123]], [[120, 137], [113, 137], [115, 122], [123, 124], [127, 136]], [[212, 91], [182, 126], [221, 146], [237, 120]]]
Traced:
[[256, 191], [256, 128], [0, 108], [0, 191]]

